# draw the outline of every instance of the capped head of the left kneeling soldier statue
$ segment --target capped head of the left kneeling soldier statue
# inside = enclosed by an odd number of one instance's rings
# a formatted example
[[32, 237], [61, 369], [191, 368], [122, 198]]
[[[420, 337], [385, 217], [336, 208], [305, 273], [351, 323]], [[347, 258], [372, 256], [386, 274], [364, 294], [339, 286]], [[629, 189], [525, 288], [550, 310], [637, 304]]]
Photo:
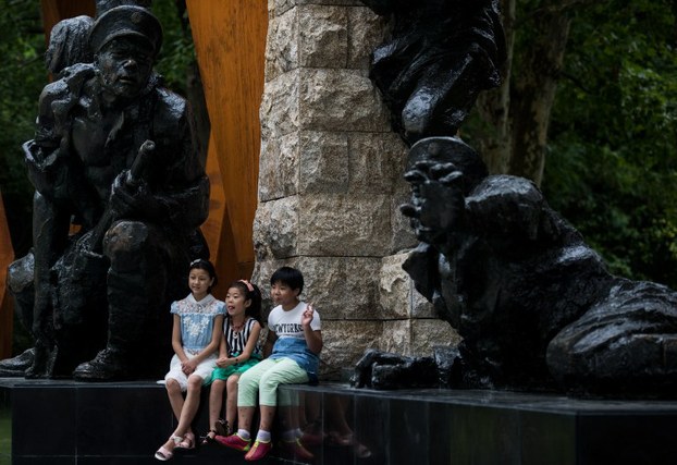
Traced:
[[146, 87], [162, 45], [162, 26], [141, 7], [103, 13], [89, 34], [99, 81], [112, 98], [133, 99]]

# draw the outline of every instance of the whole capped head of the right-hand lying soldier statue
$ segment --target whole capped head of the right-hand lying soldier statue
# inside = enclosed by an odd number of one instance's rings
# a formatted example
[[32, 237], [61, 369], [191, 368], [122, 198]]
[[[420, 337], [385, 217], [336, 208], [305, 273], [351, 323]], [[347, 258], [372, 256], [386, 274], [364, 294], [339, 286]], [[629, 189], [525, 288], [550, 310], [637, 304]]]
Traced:
[[405, 174], [411, 203], [401, 210], [411, 219], [418, 240], [444, 243], [463, 221], [465, 197], [487, 175], [480, 157], [458, 137], [429, 137], [414, 144]]

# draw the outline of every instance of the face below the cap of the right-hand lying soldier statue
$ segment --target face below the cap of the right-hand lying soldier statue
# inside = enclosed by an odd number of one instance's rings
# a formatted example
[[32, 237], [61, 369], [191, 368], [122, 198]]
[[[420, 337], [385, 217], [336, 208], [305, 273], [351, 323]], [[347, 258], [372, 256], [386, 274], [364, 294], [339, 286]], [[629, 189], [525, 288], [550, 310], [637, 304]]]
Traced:
[[420, 161], [405, 174], [411, 204], [401, 207], [419, 241], [435, 244], [460, 221], [464, 208], [463, 174], [453, 163]]

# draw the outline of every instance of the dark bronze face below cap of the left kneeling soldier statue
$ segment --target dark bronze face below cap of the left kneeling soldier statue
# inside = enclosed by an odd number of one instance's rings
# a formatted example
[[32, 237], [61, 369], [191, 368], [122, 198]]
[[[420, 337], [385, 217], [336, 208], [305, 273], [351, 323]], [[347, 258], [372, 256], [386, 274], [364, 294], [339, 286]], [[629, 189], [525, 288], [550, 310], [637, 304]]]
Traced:
[[133, 99], [146, 87], [152, 72], [152, 49], [143, 39], [111, 40], [96, 57], [103, 91], [112, 99]]

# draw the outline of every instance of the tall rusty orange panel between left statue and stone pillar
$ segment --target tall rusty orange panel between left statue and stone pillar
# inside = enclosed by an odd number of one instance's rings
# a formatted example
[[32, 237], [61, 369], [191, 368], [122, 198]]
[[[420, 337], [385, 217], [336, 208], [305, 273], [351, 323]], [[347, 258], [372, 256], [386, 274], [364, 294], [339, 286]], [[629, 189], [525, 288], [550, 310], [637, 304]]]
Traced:
[[[211, 121], [214, 150], [209, 157], [216, 157], [220, 167], [227, 213], [213, 258], [219, 268], [231, 262], [224, 279], [248, 277], [254, 269], [268, 2], [187, 0], [186, 4]], [[222, 247], [229, 243], [234, 256]]]

